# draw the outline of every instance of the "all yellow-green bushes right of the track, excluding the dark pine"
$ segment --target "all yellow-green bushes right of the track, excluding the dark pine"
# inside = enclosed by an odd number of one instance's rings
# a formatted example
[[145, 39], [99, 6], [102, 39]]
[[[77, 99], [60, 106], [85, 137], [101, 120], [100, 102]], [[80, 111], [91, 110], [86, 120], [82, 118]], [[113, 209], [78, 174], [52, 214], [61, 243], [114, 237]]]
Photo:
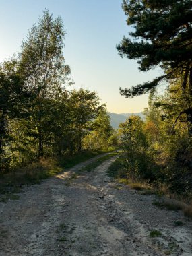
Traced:
[[160, 191], [163, 184], [166, 193], [191, 198], [192, 148], [189, 123], [183, 122], [186, 117], [181, 116], [173, 129], [177, 109], [186, 105], [181, 94], [172, 92], [172, 85], [162, 96], [153, 90], [145, 110], [145, 121], [131, 117], [119, 126], [123, 153], [111, 167], [112, 175], [133, 181], [148, 180]]

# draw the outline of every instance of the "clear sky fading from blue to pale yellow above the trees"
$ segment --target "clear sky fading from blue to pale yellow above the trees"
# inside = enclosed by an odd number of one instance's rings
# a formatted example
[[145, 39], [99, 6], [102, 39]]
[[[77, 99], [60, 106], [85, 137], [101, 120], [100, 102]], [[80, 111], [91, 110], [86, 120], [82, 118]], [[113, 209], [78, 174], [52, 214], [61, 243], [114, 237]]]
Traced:
[[141, 73], [136, 61], [122, 59], [116, 49], [129, 28], [121, 0], [0, 0], [0, 61], [20, 51], [32, 24], [44, 9], [61, 15], [66, 30], [65, 61], [75, 85], [98, 92], [114, 113], [133, 113], [147, 106], [148, 96], [126, 99], [119, 87], [148, 81], [159, 71]]

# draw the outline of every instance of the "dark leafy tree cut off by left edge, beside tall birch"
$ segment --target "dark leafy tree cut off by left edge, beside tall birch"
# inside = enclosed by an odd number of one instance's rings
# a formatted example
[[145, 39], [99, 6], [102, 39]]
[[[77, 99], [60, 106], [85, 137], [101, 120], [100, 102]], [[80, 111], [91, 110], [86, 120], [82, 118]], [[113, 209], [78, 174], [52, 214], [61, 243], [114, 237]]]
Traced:
[[10, 139], [9, 120], [24, 117], [30, 99], [17, 67], [15, 59], [4, 62], [0, 67], [0, 160]]

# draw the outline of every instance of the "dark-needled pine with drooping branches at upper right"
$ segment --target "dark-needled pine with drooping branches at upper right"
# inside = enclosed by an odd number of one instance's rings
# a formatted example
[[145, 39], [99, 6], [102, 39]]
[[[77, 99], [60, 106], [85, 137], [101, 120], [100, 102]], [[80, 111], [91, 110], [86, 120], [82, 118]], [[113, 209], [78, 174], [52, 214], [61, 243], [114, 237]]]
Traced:
[[158, 65], [164, 75], [151, 82], [121, 90], [127, 98], [144, 94], [162, 79], [181, 79], [185, 100], [192, 96], [192, 1], [123, 0], [127, 24], [135, 28], [117, 49], [121, 57], [138, 59], [139, 69], [148, 71]]

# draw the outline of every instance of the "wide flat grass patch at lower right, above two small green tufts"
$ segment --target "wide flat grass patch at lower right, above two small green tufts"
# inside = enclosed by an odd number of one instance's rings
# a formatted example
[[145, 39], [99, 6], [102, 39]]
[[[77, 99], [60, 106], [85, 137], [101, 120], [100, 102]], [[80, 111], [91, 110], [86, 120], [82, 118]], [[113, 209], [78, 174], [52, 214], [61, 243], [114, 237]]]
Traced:
[[161, 201], [154, 201], [153, 205], [156, 205], [160, 208], [164, 208], [170, 211], [179, 211], [183, 210], [183, 203], [179, 201], [174, 201], [172, 199], [162, 199]]

